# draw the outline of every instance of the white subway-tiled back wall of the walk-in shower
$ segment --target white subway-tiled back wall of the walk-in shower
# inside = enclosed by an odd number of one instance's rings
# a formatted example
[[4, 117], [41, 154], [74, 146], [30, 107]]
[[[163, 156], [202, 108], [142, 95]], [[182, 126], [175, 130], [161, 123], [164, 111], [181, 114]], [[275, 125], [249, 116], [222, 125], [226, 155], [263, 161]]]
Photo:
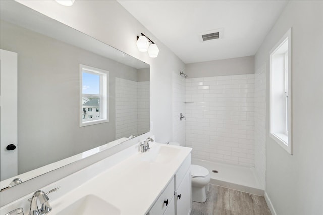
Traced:
[[185, 80], [192, 157], [254, 166], [254, 74]]

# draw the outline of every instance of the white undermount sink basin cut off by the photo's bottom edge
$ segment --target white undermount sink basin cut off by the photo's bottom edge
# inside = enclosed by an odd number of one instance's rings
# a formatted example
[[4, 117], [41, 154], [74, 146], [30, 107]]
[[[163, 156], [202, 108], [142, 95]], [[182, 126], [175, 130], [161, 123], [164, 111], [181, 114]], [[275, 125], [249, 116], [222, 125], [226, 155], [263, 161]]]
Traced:
[[95, 195], [86, 195], [83, 198], [72, 203], [62, 211], [57, 213], [58, 215], [120, 215], [121, 212], [115, 206], [107, 203], [101, 198]]

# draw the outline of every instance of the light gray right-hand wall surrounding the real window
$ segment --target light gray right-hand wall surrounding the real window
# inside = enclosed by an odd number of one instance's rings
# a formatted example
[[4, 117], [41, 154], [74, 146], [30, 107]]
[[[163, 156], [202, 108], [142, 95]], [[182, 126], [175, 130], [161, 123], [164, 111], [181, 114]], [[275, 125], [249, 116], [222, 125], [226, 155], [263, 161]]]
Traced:
[[[268, 137], [269, 51], [292, 28], [292, 144]], [[323, 214], [323, 2], [289, 1], [255, 55], [266, 66], [266, 193], [278, 215]]]

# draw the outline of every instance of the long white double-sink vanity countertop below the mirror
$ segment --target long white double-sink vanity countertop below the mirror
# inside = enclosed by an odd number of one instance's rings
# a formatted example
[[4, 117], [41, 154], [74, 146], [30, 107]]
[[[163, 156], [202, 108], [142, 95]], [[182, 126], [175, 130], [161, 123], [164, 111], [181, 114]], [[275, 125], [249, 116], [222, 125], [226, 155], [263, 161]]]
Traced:
[[[179, 153], [172, 155], [167, 162], [143, 160], [160, 146], [179, 149]], [[137, 144], [44, 187], [42, 190], [48, 192], [61, 186], [61, 189], [49, 194], [53, 208], [50, 214], [59, 213], [87, 195], [95, 195], [118, 208], [121, 214], [145, 215], [192, 150], [155, 142], [150, 144], [150, 148], [150, 151], [140, 153]], [[29, 203], [26, 199], [31, 196], [32, 193], [3, 206], [0, 213], [6, 214], [23, 207], [24, 213], [28, 214]]]

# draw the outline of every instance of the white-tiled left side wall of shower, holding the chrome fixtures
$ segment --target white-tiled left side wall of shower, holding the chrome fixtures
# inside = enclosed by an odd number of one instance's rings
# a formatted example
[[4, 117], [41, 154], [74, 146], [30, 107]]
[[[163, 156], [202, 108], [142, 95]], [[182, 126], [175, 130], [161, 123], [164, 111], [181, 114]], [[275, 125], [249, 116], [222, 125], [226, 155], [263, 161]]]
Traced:
[[[185, 78], [173, 73], [173, 139], [185, 146], [185, 120], [180, 120], [180, 113], [185, 112]], [[196, 85], [197, 86], [197, 85]]]

